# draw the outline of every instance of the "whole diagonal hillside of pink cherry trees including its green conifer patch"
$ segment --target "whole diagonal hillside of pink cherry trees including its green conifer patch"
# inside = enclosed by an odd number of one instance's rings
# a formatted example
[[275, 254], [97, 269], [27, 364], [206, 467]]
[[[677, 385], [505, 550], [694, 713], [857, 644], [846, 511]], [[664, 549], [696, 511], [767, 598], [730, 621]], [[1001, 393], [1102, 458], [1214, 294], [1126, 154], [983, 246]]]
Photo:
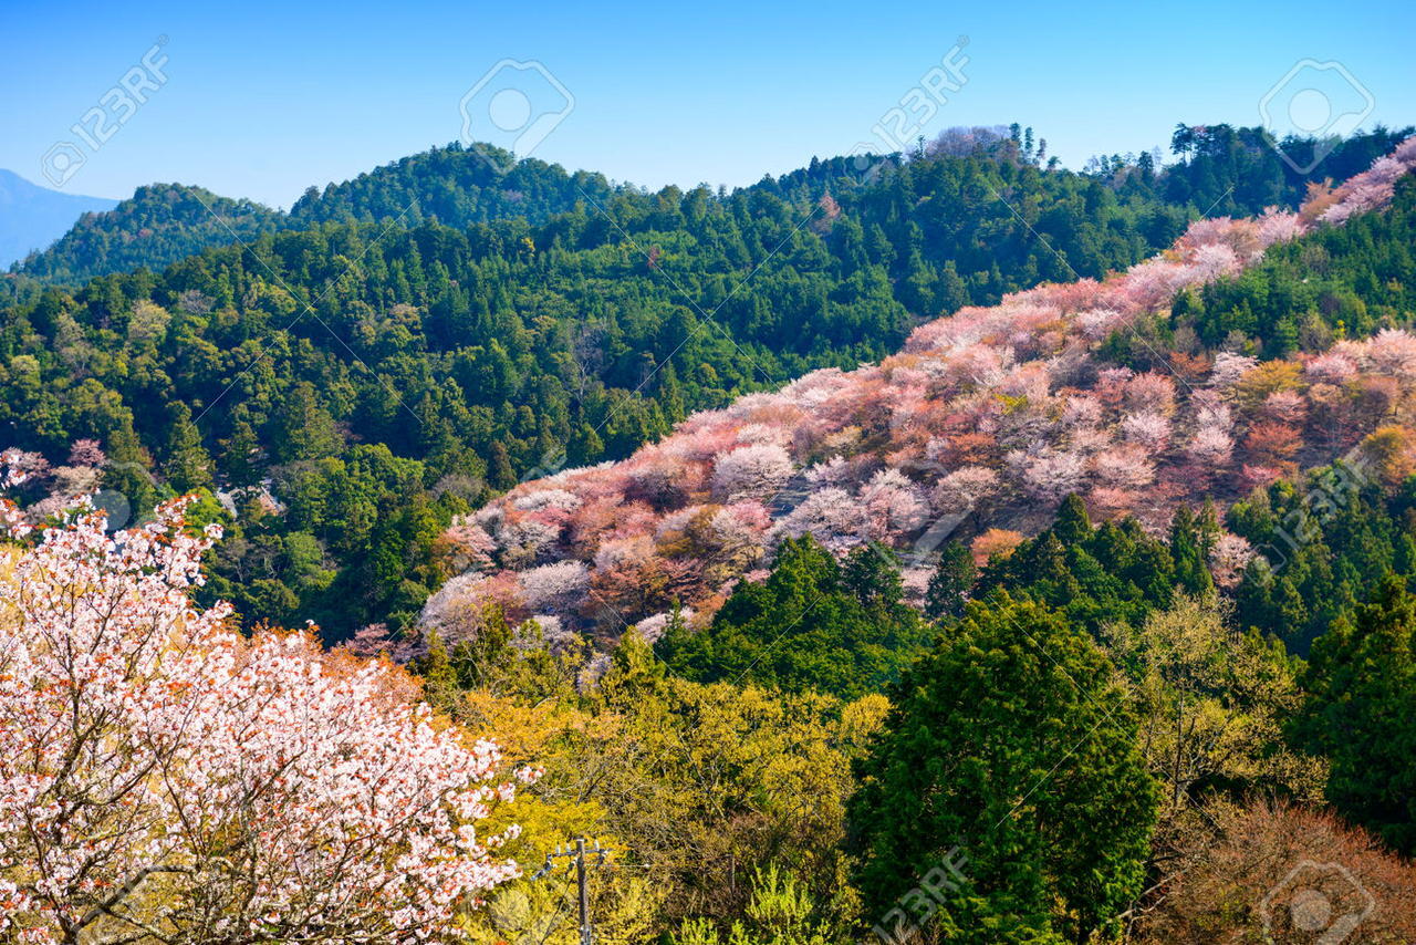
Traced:
[[[624, 462], [523, 483], [445, 533], [473, 567], [429, 601], [425, 623], [459, 639], [486, 604], [610, 639], [673, 622], [670, 664], [729, 672], [714, 647], [741, 643], [738, 595], [759, 594], [735, 589], [790, 540], [908, 553], [943, 527], [983, 564], [1069, 494], [1163, 530], [1178, 507], [1226, 504], [1354, 448], [1395, 482], [1416, 380], [1416, 337], [1402, 330], [1416, 307], [1412, 166], [1416, 139], [1298, 213], [1197, 221], [1124, 273], [963, 307], [878, 366], [818, 370], [697, 414]], [[1247, 528], [1215, 547], [1238, 581], [1255, 558], [1246, 537], [1272, 536], [1263, 516], [1236, 516]], [[933, 565], [926, 555], [903, 574], [916, 602]], [[1311, 621], [1259, 604], [1250, 577], [1256, 625], [1310, 639]], [[905, 650], [918, 642], [882, 626]], [[759, 660], [741, 672], [767, 669]]]

